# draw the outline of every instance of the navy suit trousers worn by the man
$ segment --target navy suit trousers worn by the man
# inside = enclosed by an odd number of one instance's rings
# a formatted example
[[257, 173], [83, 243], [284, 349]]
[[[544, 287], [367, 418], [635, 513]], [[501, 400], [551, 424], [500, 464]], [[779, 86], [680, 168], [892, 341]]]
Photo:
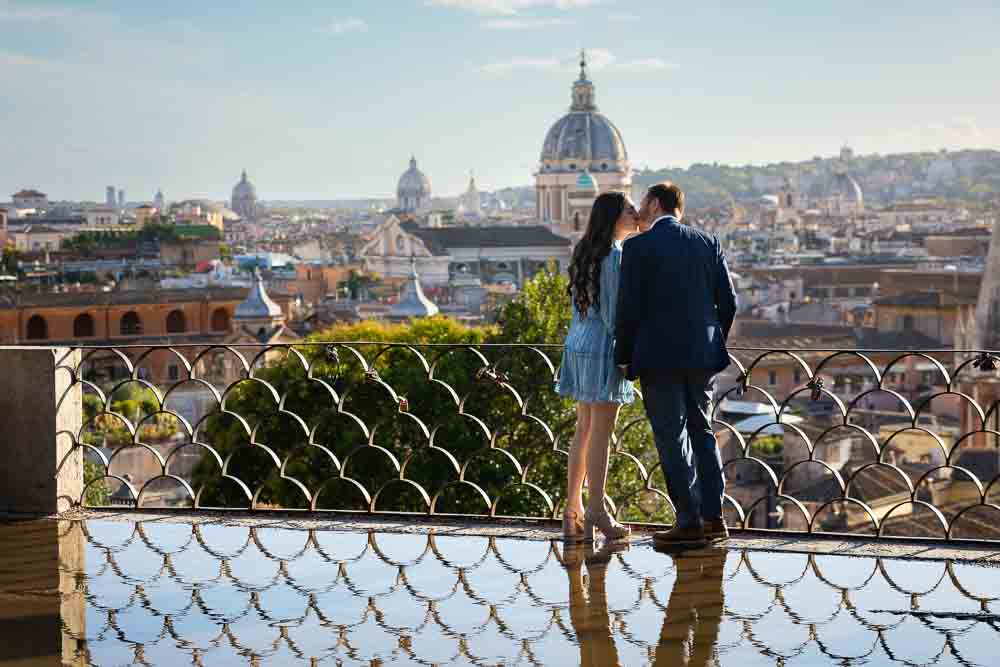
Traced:
[[656, 450], [677, 512], [677, 525], [722, 517], [725, 478], [712, 431], [711, 373], [673, 372], [642, 377], [642, 398]]

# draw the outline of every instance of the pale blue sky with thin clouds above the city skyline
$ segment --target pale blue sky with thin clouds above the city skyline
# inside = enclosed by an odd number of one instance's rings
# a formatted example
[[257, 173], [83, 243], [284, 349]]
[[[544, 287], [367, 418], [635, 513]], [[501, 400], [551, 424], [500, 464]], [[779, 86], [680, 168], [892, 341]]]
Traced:
[[0, 200], [527, 185], [581, 48], [633, 167], [1000, 148], [996, 0], [749, 4], [0, 0]]

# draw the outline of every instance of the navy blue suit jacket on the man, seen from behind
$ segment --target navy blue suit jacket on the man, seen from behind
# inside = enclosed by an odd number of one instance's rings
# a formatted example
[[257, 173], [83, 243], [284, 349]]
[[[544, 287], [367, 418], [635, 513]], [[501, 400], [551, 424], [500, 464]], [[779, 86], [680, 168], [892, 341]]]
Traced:
[[735, 317], [736, 292], [715, 236], [668, 216], [625, 242], [615, 363], [629, 364], [629, 379], [722, 371]]

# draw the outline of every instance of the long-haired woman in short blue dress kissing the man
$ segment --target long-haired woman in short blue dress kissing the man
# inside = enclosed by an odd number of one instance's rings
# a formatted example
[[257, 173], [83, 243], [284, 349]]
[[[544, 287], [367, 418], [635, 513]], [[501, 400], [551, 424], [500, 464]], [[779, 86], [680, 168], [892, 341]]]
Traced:
[[[624, 194], [601, 194], [569, 267], [573, 320], [556, 391], [576, 401], [576, 433], [569, 451], [563, 513], [563, 536], [570, 542], [593, 540], [596, 530], [609, 540], [629, 536], [629, 529], [608, 513], [604, 486], [618, 409], [635, 399], [632, 383], [615, 366], [613, 349], [622, 242], [637, 231], [637, 225], [635, 206]], [[586, 507], [584, 476], [589, 480]]]

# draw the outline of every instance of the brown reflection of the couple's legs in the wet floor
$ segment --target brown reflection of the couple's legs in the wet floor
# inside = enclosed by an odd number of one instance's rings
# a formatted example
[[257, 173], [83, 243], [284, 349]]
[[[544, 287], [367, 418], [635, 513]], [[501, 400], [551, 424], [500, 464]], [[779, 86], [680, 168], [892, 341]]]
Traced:
[[[618, 549], [624, 548], [622, 546]], [[567, 545], [563, 557], [569, 576], [569, 615], [584, 667], [621, 665], [608, 614], [606, 579], [614, 546], [594, 552], [591, 546]], [[715, 643], [725, 602], [724, 549], [671, 554], [676, 579], [663, 616], [654, 665], [717, 665]], [[587, 576], [581, 564], [586, 562]], [[585, 581], [586, 580], [586, 581]]]

